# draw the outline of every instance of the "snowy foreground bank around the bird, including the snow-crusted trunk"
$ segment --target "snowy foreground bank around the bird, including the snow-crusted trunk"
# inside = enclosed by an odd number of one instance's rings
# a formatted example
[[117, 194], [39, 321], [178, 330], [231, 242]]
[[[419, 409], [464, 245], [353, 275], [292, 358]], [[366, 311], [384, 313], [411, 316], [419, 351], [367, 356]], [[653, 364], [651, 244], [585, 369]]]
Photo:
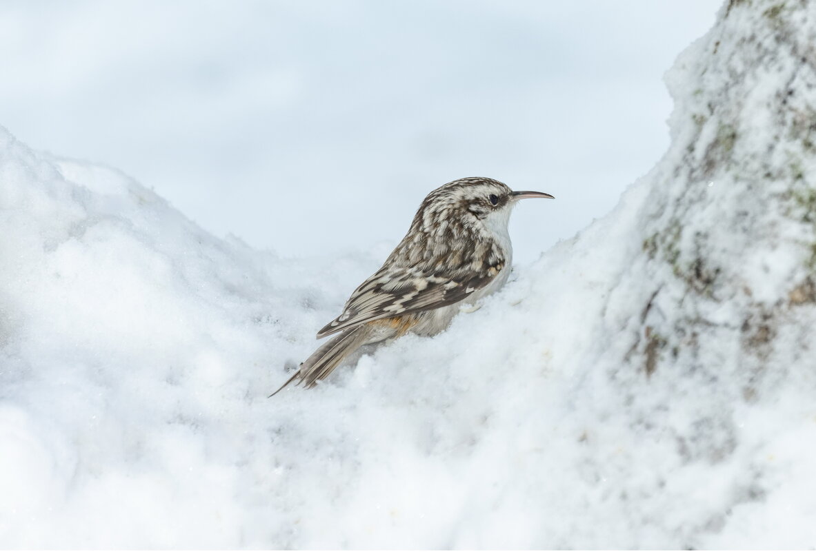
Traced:
[[273, 400], [393, 243], [277, 258], [0, 130], [0, 545], [816, 546], [816, 12], [719, 18], [609, 216]]

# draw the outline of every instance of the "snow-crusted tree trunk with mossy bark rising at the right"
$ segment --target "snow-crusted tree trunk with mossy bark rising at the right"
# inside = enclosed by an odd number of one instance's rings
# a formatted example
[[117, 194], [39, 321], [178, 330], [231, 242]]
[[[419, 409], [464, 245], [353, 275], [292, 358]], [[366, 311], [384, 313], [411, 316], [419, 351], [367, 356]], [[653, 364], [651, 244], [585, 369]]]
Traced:
[[663, 444], [648, 494], [696, 510], [673, 545], [813, 546], [816, 4], [726, 2], [666, 80], [671, 147], [571, 245], [622, 262], [588, 364], [621, 397], [629, 460]]

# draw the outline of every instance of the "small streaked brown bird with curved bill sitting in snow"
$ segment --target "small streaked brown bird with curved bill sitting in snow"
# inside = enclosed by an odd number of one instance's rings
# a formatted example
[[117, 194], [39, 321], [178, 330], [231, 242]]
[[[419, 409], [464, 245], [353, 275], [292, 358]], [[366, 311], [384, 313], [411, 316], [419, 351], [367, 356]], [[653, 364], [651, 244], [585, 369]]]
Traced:
[[412, 332], [430, 336], [460, 308], [501, 288], [510, 275], [508, 221], [521, 199], [498, 180], [470, 177], [428, 193], [410, 229], [377, 272], [354, 290], [343, 312], [317, 332], [322, 344], [275, 391], [291, 382], [312, 388], [360, 347]]

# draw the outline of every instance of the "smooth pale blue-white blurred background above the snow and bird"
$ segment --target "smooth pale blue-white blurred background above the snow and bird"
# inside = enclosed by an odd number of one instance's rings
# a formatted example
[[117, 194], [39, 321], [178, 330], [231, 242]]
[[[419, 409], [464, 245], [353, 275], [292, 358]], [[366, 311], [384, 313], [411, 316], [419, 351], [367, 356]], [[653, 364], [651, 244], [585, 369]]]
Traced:
[[719, 0], [0, 4], [0, 125], [286, 256], [394, 245], [432, 188], [550, 192], [517, 261], [668, 145], [662, 75]]

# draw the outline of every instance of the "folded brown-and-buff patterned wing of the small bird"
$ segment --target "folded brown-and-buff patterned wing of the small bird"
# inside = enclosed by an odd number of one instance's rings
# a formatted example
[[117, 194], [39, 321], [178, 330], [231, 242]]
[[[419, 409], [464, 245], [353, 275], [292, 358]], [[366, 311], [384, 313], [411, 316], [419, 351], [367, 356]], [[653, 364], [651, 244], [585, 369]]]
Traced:
[[320, 330], [317, 338], [371, 320], [430, 311], [462, 301], [488, 285], [502, 268], [503, 261], [485, 265], [479, 271], [460, 269], [450, 274], [431, 274], [416, 267], [380, 268], [354, 290], [343, 314]]

